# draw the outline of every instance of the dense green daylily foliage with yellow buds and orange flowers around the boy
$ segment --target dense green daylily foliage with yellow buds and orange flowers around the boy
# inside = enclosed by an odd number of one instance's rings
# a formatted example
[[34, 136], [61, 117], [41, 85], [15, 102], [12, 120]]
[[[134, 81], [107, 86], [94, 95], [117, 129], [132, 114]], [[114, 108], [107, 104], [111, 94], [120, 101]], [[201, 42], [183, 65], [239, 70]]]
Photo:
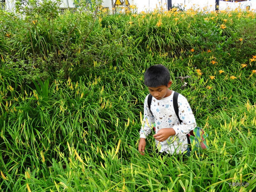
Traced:
[[[255, 12], [22, 3], [0, 11], [1, 190], [255, 189]], [[137, 151], [156, 64], [208, 134], [184, 162], [160, 157], [152, 136]]]

